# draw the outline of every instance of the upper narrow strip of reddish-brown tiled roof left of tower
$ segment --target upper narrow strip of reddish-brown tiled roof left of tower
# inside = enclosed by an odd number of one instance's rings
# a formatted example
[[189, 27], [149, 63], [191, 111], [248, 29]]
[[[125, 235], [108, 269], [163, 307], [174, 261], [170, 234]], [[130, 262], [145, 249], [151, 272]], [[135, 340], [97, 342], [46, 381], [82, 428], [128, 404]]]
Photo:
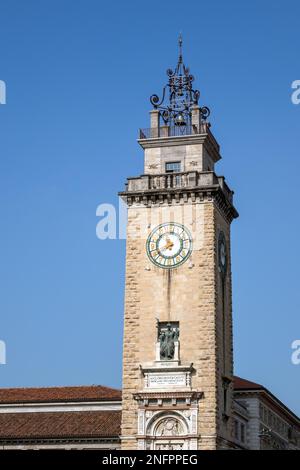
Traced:
[[121, 391], [102, 385], [0, 389], [0, 404], [111, 400], [121, 400]]

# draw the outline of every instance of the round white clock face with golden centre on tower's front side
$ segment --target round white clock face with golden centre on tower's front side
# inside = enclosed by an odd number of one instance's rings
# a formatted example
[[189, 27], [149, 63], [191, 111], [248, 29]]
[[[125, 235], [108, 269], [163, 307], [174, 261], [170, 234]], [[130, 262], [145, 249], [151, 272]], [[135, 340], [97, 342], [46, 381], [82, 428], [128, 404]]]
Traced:
[[192, 252], [192, 237], [186, 227], [169, 222], [149, 235], [147, 254], [156, 266], [171, 269], [183, 264]]

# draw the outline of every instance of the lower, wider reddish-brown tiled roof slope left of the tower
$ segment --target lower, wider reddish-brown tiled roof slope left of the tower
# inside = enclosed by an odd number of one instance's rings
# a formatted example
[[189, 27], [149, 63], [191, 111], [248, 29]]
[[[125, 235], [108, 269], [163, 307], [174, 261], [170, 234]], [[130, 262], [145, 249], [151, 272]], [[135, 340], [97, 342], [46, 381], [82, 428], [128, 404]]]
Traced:
[[121, 411], [0, 413], [0, 439], [118, 438], [120, 425]]

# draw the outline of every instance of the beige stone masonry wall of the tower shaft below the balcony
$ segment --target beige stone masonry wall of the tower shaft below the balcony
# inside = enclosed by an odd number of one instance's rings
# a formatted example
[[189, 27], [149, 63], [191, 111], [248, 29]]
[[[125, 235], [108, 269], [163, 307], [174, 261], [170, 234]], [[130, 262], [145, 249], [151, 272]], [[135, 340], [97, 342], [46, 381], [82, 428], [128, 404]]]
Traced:
[[[225, 439], [222, 422], [221, 363], [223, 346], [217, 271], [217, 233], [222, 226], [229, 246], [229, 228], [214, 202], [128, 209], [126, 294], [123, 351], [122, 448], [135, 449], [137, 404], [141, 391], [140, 364], [154, 361], [156, 319], [180, 322], [180, 356], [193, 363], [192, 388], [204, 393], [199, 402], [198, 447], [215, 449], [217, 434]], [[183, 223], [193, 235], [191, 258], [174, 270], [155, 267], [146, 253], [146, 238], [159, 223]], [[134, 233], [133, 233], [134, 232]], [[228, 272], [230, 273], [230, 266]], [[227, 312], [231, 311], [230, 275]], [[232, 371], [231, 320], [227, 323], [227, 369]], [[227, 424], [228, 428], [228, 424]]]

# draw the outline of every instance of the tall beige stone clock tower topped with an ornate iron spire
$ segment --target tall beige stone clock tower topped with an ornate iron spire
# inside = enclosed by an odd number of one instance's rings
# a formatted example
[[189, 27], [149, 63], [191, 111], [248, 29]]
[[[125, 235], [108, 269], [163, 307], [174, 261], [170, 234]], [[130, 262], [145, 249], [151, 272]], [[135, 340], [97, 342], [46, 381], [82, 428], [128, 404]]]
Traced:
[[233, 192], [182, 59], [140, 130], [128, 178], [122, 448], [231, 446]]

